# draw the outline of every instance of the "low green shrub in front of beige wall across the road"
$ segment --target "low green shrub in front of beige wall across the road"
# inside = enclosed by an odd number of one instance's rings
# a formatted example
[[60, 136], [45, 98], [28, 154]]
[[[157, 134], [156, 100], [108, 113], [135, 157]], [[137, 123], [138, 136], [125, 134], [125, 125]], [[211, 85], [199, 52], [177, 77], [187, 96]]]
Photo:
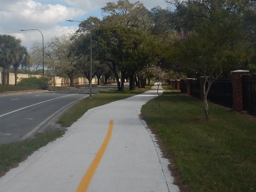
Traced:
[[42, 89], [46, 90], [48, 88], [48, 79], [45, 77], [28, 77], [21, 78], [18, 83], [20, 86], [27, 87], [29, 89]]

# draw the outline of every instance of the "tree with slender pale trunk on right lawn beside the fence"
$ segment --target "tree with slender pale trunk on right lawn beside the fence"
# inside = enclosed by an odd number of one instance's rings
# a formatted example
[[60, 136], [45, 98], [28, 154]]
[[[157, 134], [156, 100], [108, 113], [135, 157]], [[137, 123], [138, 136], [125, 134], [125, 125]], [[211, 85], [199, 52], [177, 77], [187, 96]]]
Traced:
[[206, 118], [210, 118], [207, 94], [212, 83], [223, 71], [251, 57], [250, 43], [243, 38], [243, 14], [236, 9], [236, 3], [244, 4], [224, 0], [174, 2], [183, 23], [180, 26], [183, 38], [170, 45], [167, 54], [173, 62], [204, 76], [204, 110]]

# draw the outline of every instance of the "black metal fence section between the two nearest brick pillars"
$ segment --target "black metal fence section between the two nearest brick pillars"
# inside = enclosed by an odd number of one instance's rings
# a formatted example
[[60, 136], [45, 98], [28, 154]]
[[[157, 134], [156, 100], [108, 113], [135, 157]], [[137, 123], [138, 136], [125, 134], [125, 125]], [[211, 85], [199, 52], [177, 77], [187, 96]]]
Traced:
[[232, 78], [218, 78], [212, 83], [208, 94], [211, 102], [232, 108], [233, 107], [233, 82]]

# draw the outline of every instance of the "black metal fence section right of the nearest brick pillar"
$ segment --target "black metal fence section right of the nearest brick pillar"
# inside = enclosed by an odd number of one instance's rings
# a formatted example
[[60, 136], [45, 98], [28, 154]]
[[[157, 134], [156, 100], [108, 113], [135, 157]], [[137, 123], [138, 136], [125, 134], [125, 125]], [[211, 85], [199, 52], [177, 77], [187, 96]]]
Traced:
[[242, 75], [243, 110], [256, 116], [256, 75]]

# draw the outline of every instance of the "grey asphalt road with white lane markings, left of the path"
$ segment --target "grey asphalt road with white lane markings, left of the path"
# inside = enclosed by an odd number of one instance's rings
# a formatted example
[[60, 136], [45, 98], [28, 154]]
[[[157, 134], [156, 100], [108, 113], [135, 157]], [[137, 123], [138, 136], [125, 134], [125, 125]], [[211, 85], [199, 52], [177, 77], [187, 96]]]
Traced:
[[[93, 87], [93, 93], [111, 88]], [[88, 95], [89, 89], [1, 94], [0, 144], [28, 138], [44, 126], [55, 126], [47, 123], [64, 108]]]

